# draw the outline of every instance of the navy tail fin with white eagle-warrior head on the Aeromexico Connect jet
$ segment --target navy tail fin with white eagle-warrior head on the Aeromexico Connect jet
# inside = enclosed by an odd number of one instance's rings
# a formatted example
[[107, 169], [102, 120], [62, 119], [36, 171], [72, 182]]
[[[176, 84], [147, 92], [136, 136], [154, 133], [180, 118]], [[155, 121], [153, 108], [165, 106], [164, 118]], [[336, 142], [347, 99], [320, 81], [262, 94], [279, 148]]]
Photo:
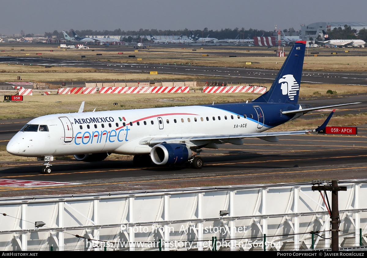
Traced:
[[305, 49], [306, 41], [294, 43], [269, 91], [255, 99], [254, 103], [298, 102]]

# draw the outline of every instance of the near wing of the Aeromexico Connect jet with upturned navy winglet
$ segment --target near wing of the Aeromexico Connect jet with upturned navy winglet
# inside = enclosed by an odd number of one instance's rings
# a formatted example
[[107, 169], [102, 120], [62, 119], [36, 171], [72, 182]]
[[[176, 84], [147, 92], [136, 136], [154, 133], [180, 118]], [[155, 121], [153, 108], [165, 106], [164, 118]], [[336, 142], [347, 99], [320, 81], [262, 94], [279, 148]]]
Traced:
[[221, 135], [201, 135], [201, 136], [193, 136], [193, 137], [167, 137], [167, 138], [151, 138], [151, 139], [143, 139], [140, 144], [144, 145], [157, 145], [163, 142], [175, 142], [175, 143], [185, 143], [185, 142], [194, 142], [195, 141], [207, 141], [207, 140], [217, 140], [222, 142], [228, 142], [236, 145], [243, 144], [243, 138], [251, 138], [257, 137], [259, 139], [263, 139], [269, 142], [277, 142], [277, 136], [284, 135], [303, 135], [309, 132], [319, 132], [325, 129], [327, 124], [329, 123], [331, 117], [333, 116], [335, 109], [330, 113], [324, 123], [313, 130], [301, 130], [301, 131], [284, 131], [284, 132], [252, 132], [246, 134], [221, 134]]

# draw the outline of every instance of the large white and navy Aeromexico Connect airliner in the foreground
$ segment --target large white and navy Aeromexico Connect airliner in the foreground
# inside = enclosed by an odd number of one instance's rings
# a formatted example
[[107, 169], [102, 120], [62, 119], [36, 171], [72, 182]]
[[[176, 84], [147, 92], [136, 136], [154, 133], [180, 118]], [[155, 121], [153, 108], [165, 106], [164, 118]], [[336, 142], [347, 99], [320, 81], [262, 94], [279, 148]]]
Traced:
[[[277, 142], [280, 135], [323, 130], [334, 112], [314, 130], [264, 132], [312, 110], [298, 104], [306, 41], [294, 44], [269, 91], [251, 103], [180, 106], [55, 114], [37, 117], [9, 141], [7, 152], [44, 161], [51, 173], [54, 156], [74, 155], [80, 161], [98, 161], [110, 153], [135, 155], [137, 166], [174, 166], [189, 162], [201, 168], [198, 154], [218, 144], [243, 144], [257, 137]], [[214, 103], [213, 103], [214, 104]]]

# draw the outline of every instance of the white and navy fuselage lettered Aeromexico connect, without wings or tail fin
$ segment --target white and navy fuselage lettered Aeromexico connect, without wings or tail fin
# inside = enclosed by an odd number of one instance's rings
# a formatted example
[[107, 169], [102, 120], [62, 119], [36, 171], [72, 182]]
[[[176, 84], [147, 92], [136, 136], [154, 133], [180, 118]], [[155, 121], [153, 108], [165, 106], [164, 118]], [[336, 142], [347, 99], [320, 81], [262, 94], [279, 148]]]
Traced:
[[[147, 154], [152, 146], [142, 143], [146, 139], [262, 132], [294, 117], [282, 110], [299, 108], [252, 102], [47, 115], [29, 121], [7, 151], [26, 157]], [[187, 143], [193, 149], [195, 144]]]

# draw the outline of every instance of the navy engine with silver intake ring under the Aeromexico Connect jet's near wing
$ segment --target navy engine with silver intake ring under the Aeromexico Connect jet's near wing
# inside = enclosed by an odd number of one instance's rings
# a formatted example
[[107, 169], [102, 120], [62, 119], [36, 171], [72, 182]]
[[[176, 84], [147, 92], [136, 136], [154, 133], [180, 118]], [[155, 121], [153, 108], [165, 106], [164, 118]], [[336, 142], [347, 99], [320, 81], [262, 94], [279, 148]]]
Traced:
[[185, 163], [191, 157], [190, 148], [179, 143], [161, 143], [150, 150], [150, 158], [160, 166]]

